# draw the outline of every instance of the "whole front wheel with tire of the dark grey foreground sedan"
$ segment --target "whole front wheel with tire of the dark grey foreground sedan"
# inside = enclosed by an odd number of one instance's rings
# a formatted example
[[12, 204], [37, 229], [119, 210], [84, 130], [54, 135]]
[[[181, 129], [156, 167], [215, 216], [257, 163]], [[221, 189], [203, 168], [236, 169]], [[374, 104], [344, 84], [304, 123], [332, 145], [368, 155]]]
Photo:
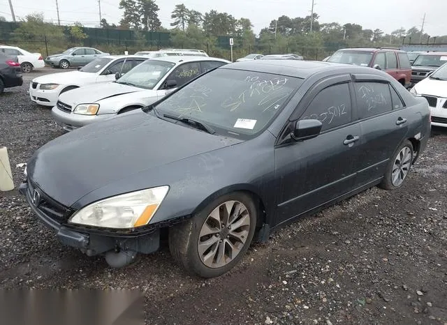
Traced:
[[247, 252], [256, 218], [256, 205], [249, 195], [223, 195], [193, 218], [170, 228], [171, 255], [188, 273], [203, 278], [222, 275]]

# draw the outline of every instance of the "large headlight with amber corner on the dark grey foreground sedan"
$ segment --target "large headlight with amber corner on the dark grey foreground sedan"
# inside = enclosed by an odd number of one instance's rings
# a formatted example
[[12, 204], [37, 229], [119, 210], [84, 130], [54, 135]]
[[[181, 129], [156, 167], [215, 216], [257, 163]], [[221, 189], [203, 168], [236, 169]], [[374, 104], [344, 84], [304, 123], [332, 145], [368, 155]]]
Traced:
[[160, 186], [109, 197], [80, 209], [68, 222], [119, 229], [144, 226], [159, 209], [168, 190], [169, 186]]

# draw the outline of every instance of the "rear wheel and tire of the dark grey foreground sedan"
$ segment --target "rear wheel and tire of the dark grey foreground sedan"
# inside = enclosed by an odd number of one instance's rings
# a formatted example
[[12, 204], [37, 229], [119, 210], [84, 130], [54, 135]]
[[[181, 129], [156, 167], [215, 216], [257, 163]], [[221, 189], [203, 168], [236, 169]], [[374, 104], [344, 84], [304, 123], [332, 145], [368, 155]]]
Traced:
[[379, 184], [384, 190], [395, 190], [400, 188], [408, 176], [413, 162], [413, 144], [406, 140], [393, 154], [388, 162], [385, 176]]

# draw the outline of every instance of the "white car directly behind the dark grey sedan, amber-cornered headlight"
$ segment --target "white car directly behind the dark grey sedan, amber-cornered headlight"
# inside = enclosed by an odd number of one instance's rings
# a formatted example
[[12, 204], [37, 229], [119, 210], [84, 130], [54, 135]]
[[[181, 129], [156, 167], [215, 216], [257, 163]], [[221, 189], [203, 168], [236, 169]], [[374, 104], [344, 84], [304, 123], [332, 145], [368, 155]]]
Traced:
[[230, 63], [198, 56], [166, 56], [136, 66], [115, 82], [74, 89], [59, 96], [52, 116], [71, 131], [160, 100], [198, 75]]

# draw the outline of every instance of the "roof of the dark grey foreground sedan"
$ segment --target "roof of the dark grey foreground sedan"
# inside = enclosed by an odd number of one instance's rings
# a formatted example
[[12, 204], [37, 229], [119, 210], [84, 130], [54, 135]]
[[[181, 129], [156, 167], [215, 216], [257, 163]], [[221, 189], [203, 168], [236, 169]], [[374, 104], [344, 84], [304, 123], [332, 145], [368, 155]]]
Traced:
[[240, 61], [221, 66], [219, 69], [237, 69], [258, 73], [272, 73], [302, 79], [323, 70], [328, 71], [328, 74], [330, 75], [339, 73], [369, 73], [383, 76], [383, 71], [373, 68], [350, 66], [349, 64], [344, 63], [303, 60]]

